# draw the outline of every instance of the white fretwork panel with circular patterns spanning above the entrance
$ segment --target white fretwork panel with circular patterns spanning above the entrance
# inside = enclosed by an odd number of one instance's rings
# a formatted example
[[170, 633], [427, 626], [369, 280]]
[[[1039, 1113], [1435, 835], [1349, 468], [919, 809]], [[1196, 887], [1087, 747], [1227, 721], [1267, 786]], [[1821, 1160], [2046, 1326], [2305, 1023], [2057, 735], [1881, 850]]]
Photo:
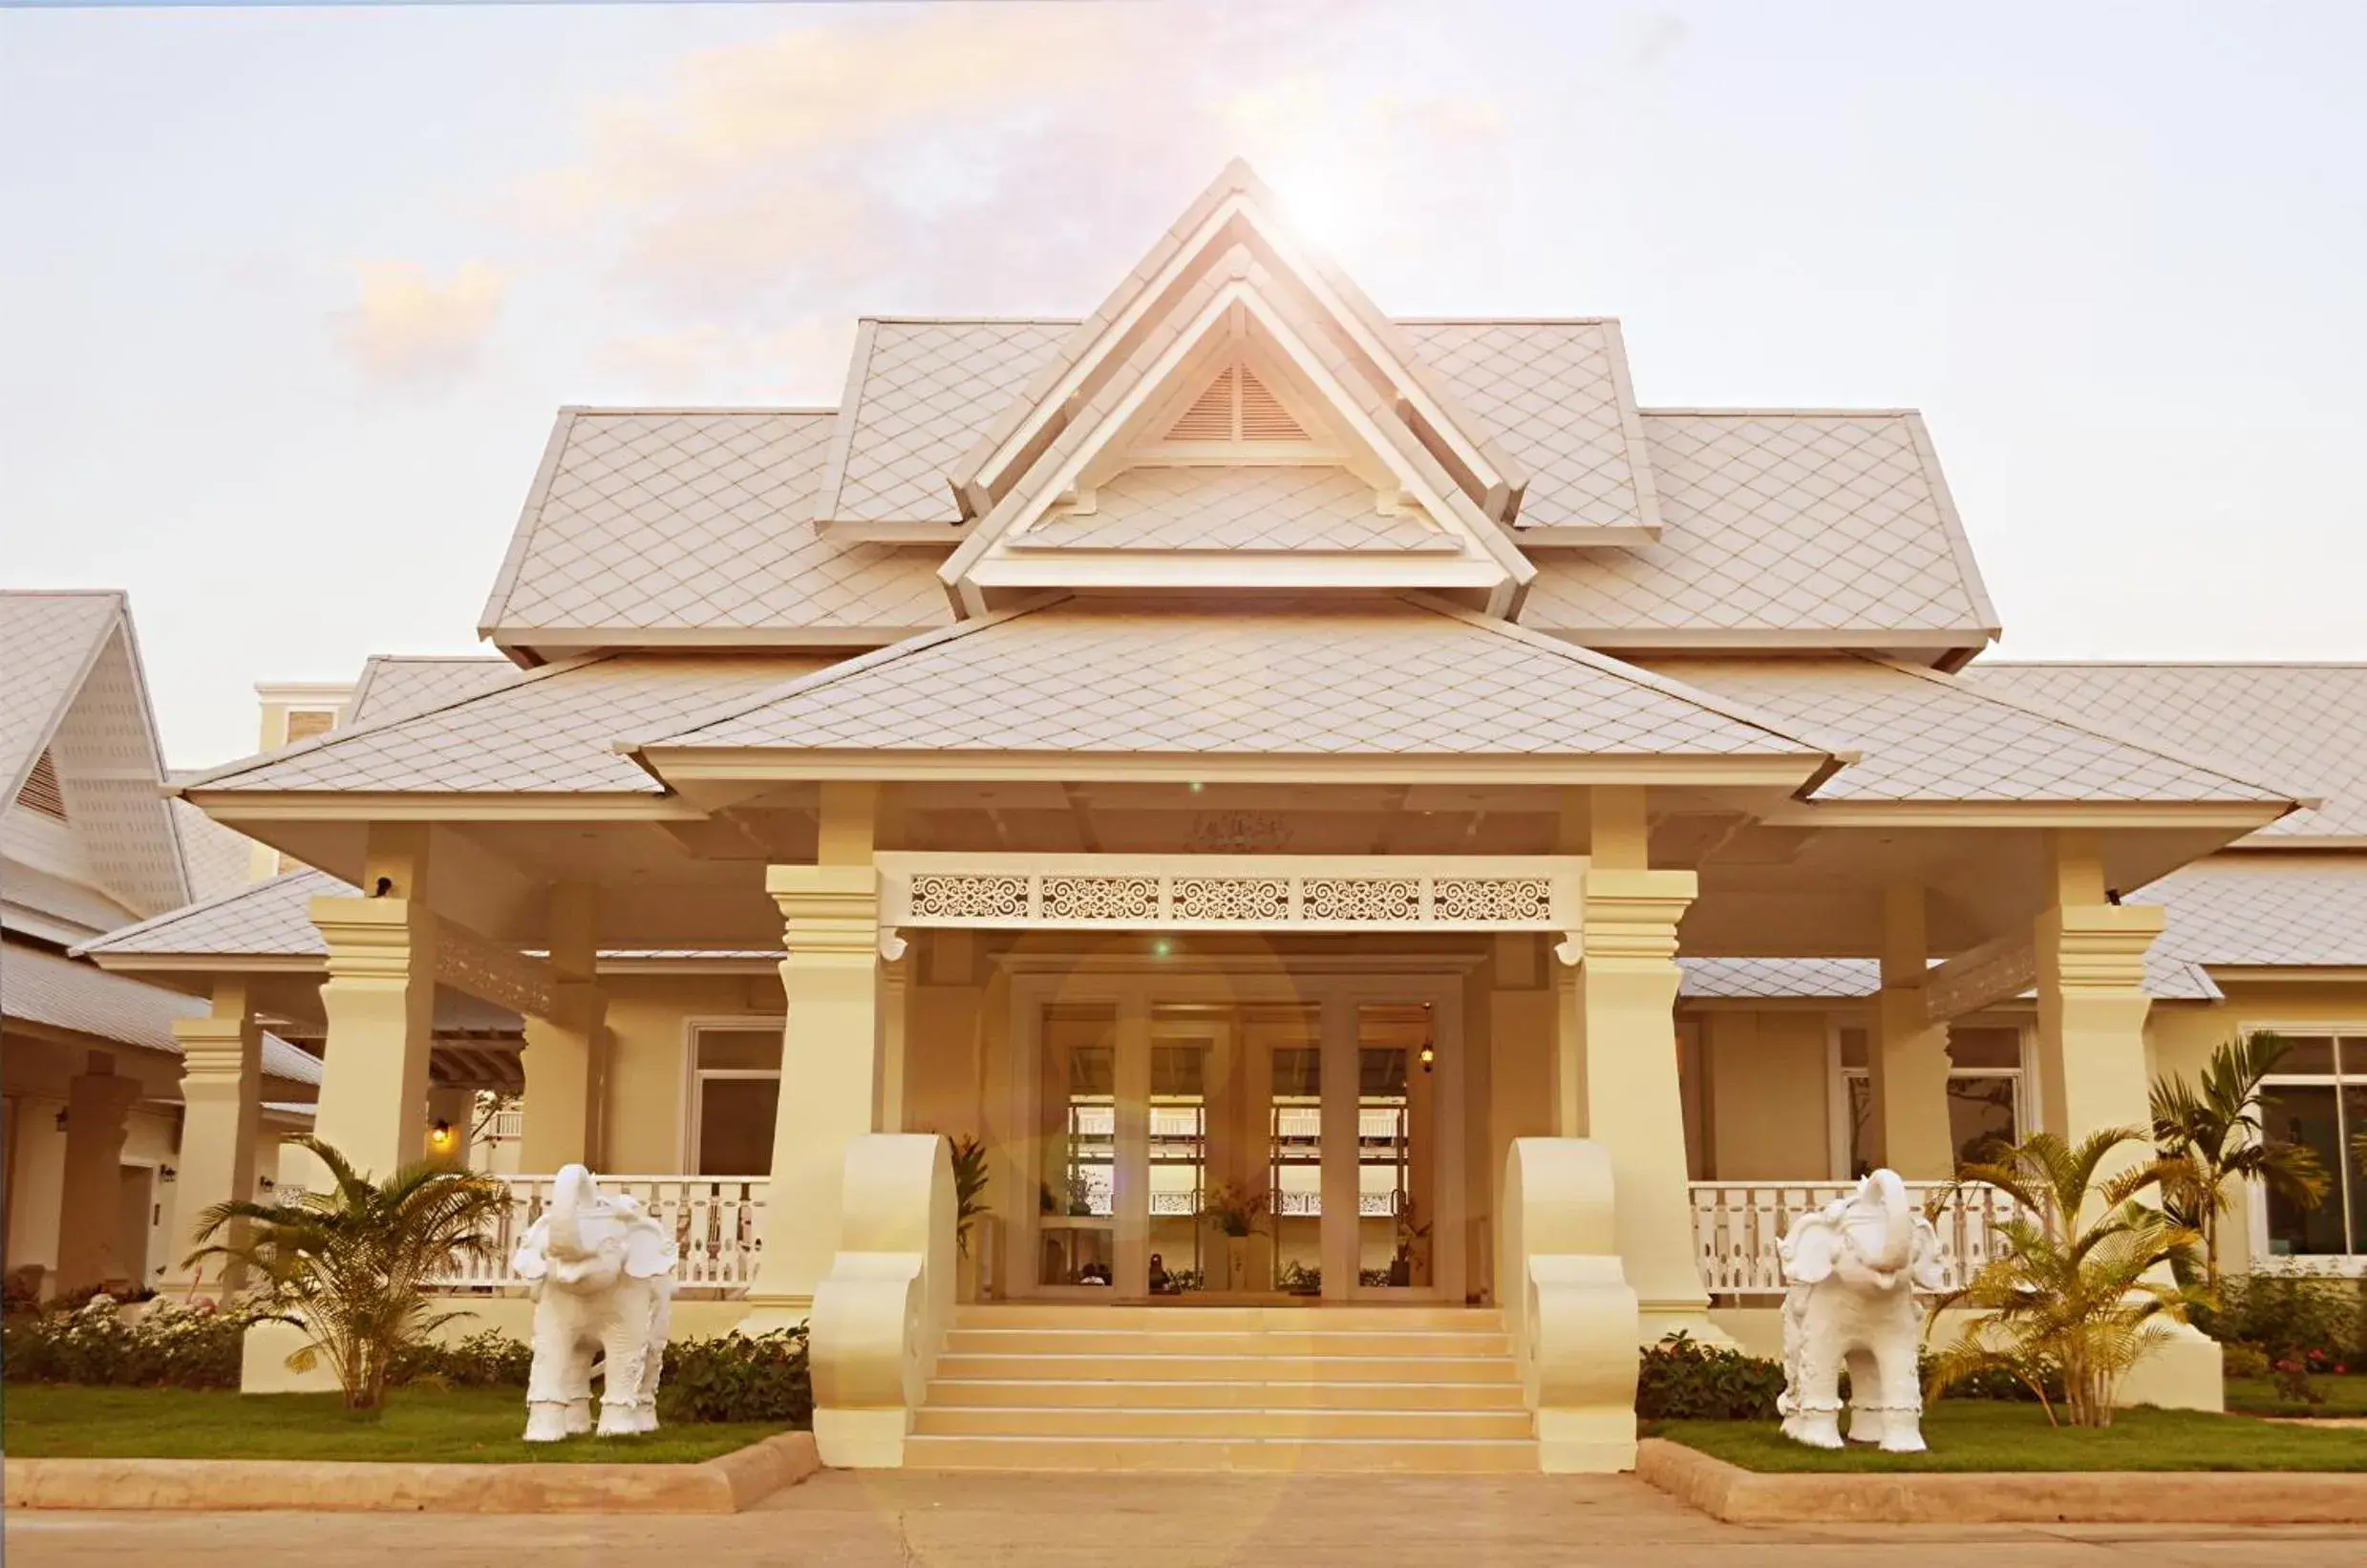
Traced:
[[902, 927], [1553, 932], [1576, 963], [1586, 856], [883, 851], [881, 958]]

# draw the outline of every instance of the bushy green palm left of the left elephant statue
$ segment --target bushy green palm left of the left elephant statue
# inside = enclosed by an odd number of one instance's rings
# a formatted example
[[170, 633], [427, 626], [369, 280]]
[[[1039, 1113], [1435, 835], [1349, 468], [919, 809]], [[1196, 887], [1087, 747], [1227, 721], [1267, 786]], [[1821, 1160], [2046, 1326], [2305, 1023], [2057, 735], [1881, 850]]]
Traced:
[[[260, 1294], [260, 1320], [291, 1322], [310, 1339], [294, 1372], [327, 1358], [346, 1410], [379, 1410], [395, 1353], [466, 1313], [431, 1313], [426, 1282], [457, 1256], [488, 1256], [507, 1194], [471, 1171], [419, 1161], [383, 1180], [353, 1168], [317, 1138], [291, 1140], [327, 1166], [327, 1192], [275, 1204], [232, 1199], [199, 1216], [206, 1242], [189, 1263], [222, 1258]], [[215, 1237], [222, 1237], [215, 1242]]]

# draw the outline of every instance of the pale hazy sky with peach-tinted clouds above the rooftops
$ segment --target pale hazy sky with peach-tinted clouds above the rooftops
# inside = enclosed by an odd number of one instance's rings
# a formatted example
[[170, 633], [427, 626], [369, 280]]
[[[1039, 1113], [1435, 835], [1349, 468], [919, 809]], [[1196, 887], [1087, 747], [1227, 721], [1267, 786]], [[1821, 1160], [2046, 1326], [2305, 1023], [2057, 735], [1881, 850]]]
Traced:
[[0, 584], [244, 754], [481, 648], [561, 404], [1089, 312], [1245, 154], [1385, 310], [1922, 409], [2005, 653], [2367, 660], [2360, 80], [2350, 0], [0, 9]]

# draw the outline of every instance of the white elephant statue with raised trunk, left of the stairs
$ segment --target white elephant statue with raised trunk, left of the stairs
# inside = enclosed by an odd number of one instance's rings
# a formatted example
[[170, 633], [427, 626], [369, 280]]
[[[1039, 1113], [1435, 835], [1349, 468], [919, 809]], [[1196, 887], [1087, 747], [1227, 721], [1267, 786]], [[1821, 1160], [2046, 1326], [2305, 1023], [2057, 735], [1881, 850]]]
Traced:
[[535, 1298], [525, 1440], [592, 1428], [592, 1355], [606, 1358], [599, 1436], [658, 1428], [658, 1374], [675, 1310], [675, 1237], [627, 1194], [566, 1166], [552, 1206], [511, 1258]]

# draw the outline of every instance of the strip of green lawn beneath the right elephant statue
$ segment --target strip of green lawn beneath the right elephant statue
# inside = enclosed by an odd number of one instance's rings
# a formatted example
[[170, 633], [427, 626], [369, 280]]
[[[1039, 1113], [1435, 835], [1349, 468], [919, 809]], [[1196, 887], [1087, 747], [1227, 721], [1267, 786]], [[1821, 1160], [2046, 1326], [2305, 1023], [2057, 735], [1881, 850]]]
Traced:
[[1775, 1421], [1652, 1421], [1645, 1433], [1747, 1471], [2367, 1471], [2367, 1431], [2313, 1431], [2201, 1410], [2123, 1410], [2111, 1426], [2047, 1426], [2038, 1405], [1939, 1400], [1924, 1454], [1792, 1443]]

